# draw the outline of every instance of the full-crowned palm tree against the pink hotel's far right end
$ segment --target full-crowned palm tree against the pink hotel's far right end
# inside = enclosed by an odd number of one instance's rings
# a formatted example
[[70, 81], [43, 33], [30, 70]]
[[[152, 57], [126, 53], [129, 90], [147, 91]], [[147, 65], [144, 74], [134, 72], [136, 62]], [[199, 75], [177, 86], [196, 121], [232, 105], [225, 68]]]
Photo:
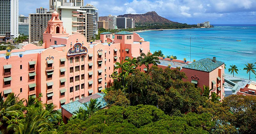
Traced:
[[149, 70], [149, 64], [153, 64], [156, 66], [157, 64], [160, 64], [160, 62], [158, 61], [159, 58], [154, 55], [151, 55], [150, 52], [148, 52], [147, 55], [145, 53], [141, 53], [140, 56], [137, 57], [137, 60], [140, 66], [144, 64], [148, 70]]

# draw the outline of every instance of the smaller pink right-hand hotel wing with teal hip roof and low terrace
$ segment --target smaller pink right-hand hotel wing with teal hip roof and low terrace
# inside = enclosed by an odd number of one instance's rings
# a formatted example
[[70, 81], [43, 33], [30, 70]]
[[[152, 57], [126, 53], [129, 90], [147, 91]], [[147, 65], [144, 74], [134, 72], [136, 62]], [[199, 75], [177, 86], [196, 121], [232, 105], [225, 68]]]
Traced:
[[[169, 58], [163, 59], [159, 57], [161, 62], [158, 66], [161, 68], [167, 68], [170, 64], [171, 69], [179, 68], [180, 71], [184, 72], [188, 79], [183, 79], [184, 81], [189, 81], [195, 84], [195, 87], [200, 87], [204, 90], [204, 85], [209, 86], [212, 92], [219, 95], [220, 101], [225, 97], [224, 92], [224, 62], [217, 61], [216, 57], [200, 59], [196, 62], [184, 62], [181, 60]], [[210, 95], [211, 95], [210, 93]]]

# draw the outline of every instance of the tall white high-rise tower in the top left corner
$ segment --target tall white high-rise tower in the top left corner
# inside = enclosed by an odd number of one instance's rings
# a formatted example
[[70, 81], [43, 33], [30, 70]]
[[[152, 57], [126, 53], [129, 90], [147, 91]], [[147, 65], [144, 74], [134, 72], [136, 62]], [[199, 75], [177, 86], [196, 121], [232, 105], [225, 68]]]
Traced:
[[10, 38], [18, 37], [19, 0], [0, 0], [0, 14], [0, 36], [10, 32]]

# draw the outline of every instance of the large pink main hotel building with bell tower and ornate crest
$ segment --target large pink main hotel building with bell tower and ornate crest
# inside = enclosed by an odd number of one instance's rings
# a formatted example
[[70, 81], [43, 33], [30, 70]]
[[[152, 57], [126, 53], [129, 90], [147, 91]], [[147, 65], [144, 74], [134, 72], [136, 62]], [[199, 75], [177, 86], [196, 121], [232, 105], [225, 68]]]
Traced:
[[9, 59], [6, 51], [0, 51], [0, 92], [5, 97], [12, 92], [25, 99], [42, 94], [43, 103], [53, 103], [58, 109], [109, 87], [116, 62], [149, 52], [149, 42], [137, 33], [122, 31], [115, 40], [112, 33], [101, 33], [102, 43], [87, 43], [83, 34], [65, 31], [58, 12], [51, 16], [42, 46], [14, 49]]

